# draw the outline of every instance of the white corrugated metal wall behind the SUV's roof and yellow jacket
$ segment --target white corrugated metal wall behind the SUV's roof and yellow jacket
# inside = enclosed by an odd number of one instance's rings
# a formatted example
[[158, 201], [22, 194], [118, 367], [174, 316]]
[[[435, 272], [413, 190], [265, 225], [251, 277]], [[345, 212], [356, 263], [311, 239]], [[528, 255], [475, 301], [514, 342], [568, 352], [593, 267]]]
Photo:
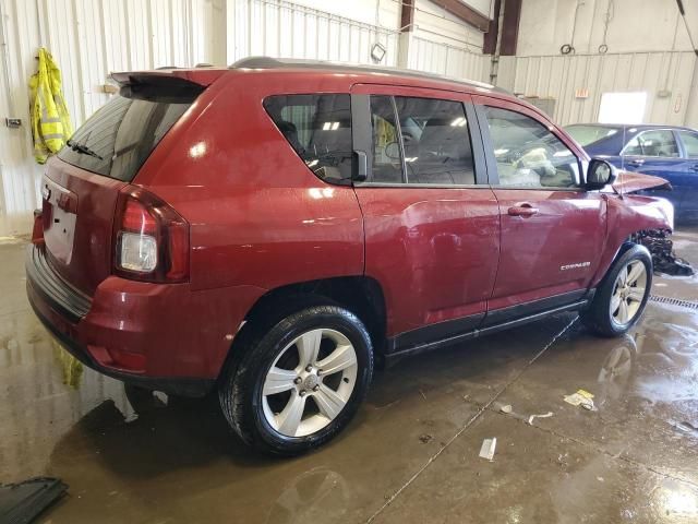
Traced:
[[[373, 63], [376, 43], [386, 48], [382, 64], [397, 64], [399, 1], [297, 1], [0, 0], [0, 117], [23, 120], [20, 129], [0, 122], [0, 236], [28, 233], [40, 204], [43, 168], [33, 159], [28, 115], [38, 47], [61, 68], [75, 127], [109, 99], [103, 85], [113, 71], [226, 64], [251, 55]], [[426, 0], [417, 8], [409, 66], [488, 81], [482, 34]]]

